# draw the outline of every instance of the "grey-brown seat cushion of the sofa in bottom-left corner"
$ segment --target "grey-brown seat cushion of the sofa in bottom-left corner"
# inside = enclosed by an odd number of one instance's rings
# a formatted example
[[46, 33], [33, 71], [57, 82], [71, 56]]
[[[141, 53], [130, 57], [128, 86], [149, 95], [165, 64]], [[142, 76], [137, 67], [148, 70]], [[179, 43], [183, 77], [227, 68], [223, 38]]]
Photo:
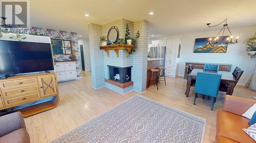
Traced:
[[0, 143], [29, 143], [30, 138], [26, 129], [21, 128], [0, 137]]

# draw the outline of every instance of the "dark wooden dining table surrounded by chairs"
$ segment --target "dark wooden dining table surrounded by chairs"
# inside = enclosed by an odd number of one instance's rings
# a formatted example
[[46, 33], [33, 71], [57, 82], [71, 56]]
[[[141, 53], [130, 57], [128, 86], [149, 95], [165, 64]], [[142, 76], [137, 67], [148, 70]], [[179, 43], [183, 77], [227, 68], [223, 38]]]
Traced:
[[187, 74], [187, 88], [185, 95], [188, 97], [190, 87], [192, 85], [192, 82], [195, 83], [197, 79], [197, 73], [198, 72], [205, 72], [205, 73], [212, 73], [212, 74], [221, 74], [221, 83], [220, 85], [227, 85], [226, 94], [232, 95], [234, 91], [234, 87], [236, 87], [236, 84], [238, 80], [233, 76], [232, 72], [230, 71], [215, 71], [215, 70], [204, 70], [204, 69], [193, 69]]

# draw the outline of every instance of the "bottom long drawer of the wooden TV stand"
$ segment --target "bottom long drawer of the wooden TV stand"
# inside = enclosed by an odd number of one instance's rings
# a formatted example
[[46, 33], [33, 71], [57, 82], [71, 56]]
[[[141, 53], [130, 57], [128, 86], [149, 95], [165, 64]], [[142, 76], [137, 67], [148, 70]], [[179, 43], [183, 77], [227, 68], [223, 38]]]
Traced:
[[39, 93], [33, 93], [33, 94], [23, 95], [19, 97], [4, 99], [4, 101], [6, 106], [11, 106], [11, 105], [20, 104], [28, 101], [33, 101], [39, 98], [40, 98]]

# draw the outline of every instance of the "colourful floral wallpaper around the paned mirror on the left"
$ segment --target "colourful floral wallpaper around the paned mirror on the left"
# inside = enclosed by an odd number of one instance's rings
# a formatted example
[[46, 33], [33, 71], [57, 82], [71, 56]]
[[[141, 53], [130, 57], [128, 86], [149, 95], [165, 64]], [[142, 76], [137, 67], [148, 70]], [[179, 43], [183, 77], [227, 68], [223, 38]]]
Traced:
[[[62, 40], [71, 40], [72, 49], [76, 53], [79, 53], [79, 46], [78, 46], [78, 35], [74, 32], [67, 32], [67, 31], [58, 31], [52, 30], [48, 28], [40, 28], [40, 27], [30, 27], [28, 33], [37, 33], [42, 34], [44, 36], [48, 36], [52, 39], [62, 39]], [[64, 54], [57, 54], [55, 55], [56, 61], [70, 61], [70, 55]], [[80, 55], [76, 55], [76, 73], [77, 77], [81, 77], [81, 58]]]

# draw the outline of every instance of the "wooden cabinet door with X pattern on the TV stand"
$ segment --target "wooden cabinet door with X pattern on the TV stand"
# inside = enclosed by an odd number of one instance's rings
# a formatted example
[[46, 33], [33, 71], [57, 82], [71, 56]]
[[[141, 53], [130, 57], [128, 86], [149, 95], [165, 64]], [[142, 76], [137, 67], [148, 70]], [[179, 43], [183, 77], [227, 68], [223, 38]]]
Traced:
[[57, 94], [57, 85], [55, 82], [55, 75], [40, 76], [39, 85], [40, 85], [41, 97]]

